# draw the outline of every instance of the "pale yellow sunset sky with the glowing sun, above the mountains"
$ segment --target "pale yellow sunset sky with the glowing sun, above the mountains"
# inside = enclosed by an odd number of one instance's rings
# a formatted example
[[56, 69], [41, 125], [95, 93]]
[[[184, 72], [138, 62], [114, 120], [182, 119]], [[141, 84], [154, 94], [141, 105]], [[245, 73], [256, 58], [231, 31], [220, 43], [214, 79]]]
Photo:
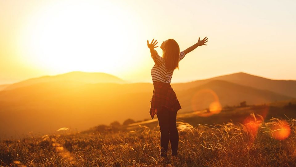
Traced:
[[[71, 71], [152, 83], [146, 41], [180, 50], [172, 83], [246, 72], [296, 80], [296, 1], [0, 1], [0, 84]], [[162, 50], [156, 48], [159, 55]]]

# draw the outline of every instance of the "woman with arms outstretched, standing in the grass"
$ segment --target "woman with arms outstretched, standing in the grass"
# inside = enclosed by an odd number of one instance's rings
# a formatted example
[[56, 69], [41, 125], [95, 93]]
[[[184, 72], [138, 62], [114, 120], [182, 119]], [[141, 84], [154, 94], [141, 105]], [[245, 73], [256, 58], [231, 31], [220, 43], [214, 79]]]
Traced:
[[171, 88], [171, 79], [176, 68], [179, 70], [179, 61], [186, 54], [194, 50], [198, 46], [206, 45], [208, 38], [202, 41], [198, 38], [198, 42], [191, 47], [180, 52], [178, 43], [173, 39], [163, 41], [160, 48], [162, 49], [162, 57], [154, 49], [158, 42], [154, 39], [147, 46], [150, 49], [151, 57], [155, 64], [151, 69], [153, 81], [153, 95], [151, 99], [150, 115], [154, 118], [157, 115], [160, 127], [160, 156], [167, 157], [168, 143], [171, 141], [172, 156], [178, 154], [179, 133], [176, 126], [177, 112], [181, 109], [176, 94]]

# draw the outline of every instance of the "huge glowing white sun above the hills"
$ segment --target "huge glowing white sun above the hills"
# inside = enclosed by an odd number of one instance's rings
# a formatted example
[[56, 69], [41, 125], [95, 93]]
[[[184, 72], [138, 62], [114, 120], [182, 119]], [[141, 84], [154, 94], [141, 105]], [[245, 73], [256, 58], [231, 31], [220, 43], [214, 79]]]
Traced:
[[109, 1], [47, 3], [32, 11], [19, 50], [34, 66], [51, 71], [114, 73], [129, 63], [139, 31], [133, 15]]

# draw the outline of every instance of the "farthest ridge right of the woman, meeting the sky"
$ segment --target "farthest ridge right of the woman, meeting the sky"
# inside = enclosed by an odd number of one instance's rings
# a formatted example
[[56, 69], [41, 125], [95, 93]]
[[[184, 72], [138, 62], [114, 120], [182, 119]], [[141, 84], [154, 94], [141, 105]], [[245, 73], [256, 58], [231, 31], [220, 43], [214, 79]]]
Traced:
[[212, 80], [224, 80], [240, 85], [245, 85], [257, 89], [269, 90], [286, 96], [296, 98], [296, 81], [295, 80], [273, 80], [267, 79], [247, 73], [235, 73], [229, 75], [222, 75], [210, 79], [196, 80], [189, 83], [175, 83], [171, 84], [174, 90], [185, 90], [194, 88]]

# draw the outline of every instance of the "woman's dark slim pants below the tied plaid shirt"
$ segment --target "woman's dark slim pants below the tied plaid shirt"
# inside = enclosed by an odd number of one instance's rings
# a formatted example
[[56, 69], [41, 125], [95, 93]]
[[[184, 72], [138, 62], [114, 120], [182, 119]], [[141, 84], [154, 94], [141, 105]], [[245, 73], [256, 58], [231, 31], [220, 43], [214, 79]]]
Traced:
[[176, 156], [178, 152], [179, 133], [176, 125], [177, 112], [162, 107], [156, 113], [160, 127], [160, 156], [167, 156], [167, 148], [171, 140], [172, 155]]

